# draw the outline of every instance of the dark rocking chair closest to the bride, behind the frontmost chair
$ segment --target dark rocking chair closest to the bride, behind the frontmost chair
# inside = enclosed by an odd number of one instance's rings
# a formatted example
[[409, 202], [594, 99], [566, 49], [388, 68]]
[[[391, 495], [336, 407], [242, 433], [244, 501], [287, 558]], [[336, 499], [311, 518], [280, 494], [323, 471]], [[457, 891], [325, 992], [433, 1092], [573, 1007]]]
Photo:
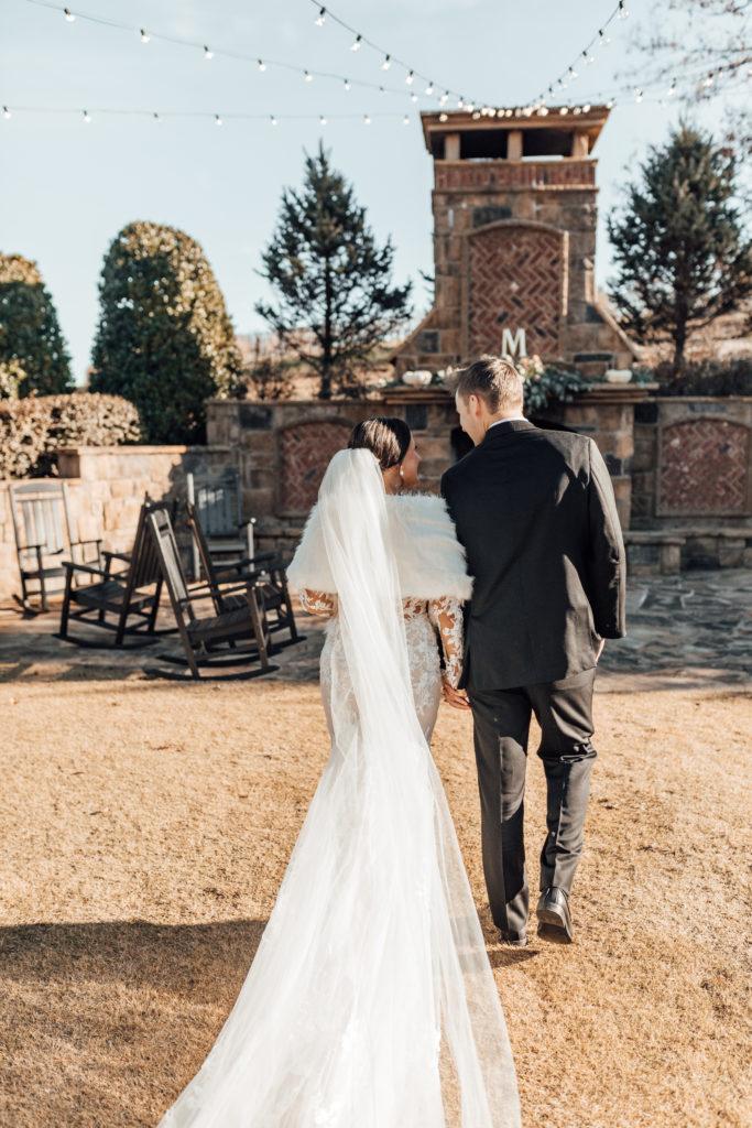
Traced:
[[212, 558], [197, 506], [191, 501], [186, 503], [186, 514], [188, 528], [193, 535], [194, 553], [198, 557], [201, 572], [206, 578], [216, 614], [232, 610], [244, 602], [244, 596], [228, 593], [228, 584], [235, 584], [237, 588], [237, 584], [242, 581], [255, 581], [267, 618], [269, 614], [273, 615], [269, 622], [271, 633], [290, 632], [289, 640], [285, 640], [284, 643], [277, 643], [277, 645], [303, 642], [306, 636], [299, 634], [295, 625], [292, 600], [287, 590], [287, 575], [280, 553], [256, 553], [253, 557], [246, 556], [229, 564], [222, 563], [218, 567]]

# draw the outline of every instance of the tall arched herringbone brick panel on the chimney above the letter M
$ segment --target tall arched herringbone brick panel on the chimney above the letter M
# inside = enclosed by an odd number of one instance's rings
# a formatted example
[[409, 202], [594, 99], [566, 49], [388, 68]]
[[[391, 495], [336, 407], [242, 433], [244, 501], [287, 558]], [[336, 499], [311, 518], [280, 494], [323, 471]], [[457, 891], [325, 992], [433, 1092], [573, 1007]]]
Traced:
[[530, 355], [561, 353], [567, 309], [566, 231], [499, 220], [468, 233], [463, 353], [498, 353], [504, 329], [524, 329]]

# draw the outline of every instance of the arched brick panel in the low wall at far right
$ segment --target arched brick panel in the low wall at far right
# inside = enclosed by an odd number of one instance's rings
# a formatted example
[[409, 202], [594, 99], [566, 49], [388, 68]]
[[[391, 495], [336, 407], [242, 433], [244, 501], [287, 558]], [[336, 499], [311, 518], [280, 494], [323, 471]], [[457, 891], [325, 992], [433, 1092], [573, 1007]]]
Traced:
[[661, 430], [660, 517], [738, 515], [750, 512], [750, 429], [728, 420], [697, 418]]

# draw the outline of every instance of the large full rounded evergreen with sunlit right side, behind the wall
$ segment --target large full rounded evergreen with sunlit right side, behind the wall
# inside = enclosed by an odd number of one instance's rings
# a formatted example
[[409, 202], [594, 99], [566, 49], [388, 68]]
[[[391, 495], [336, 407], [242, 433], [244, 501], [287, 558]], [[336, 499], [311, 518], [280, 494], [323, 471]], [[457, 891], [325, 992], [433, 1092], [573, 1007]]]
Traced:
[[205, 402], [241, 387], [241, 358], [211, 266], [185, 232], [123, 228], [105, 257], [91, 390], [135, 404], [148, 442], [202, 442]]

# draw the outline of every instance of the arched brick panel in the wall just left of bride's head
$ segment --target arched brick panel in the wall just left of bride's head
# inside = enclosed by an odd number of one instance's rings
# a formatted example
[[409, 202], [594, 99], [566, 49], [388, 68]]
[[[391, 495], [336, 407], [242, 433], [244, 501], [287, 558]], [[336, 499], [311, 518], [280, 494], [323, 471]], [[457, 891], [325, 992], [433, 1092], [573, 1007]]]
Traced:
[[280, 431], [280, 510], [308, 513], [329, 459], [347, 446], [351, 426], [330, 421], [297, 423]]

